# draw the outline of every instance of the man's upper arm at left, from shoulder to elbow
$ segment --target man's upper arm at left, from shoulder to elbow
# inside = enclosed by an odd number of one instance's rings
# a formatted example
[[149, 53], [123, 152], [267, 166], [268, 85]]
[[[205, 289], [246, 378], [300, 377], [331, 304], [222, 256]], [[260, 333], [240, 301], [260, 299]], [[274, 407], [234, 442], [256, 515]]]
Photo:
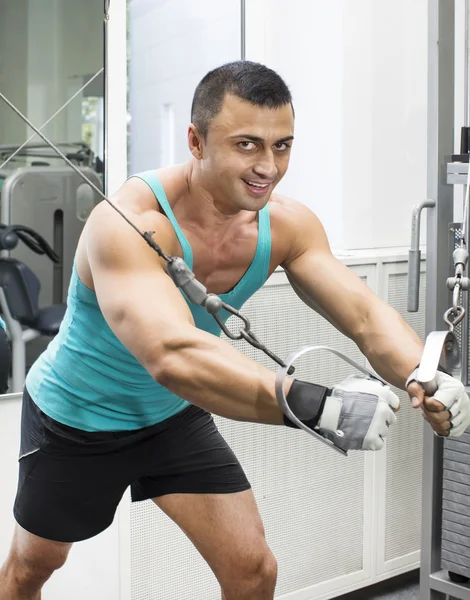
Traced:
[[[158, 255], [125, 221], [111, 219], [111, 239], [93, 225], [87, 236], [98, 304], [113, 333], [154, 375], [166, 350], [193, 326], [192, 315]], [[113, 239], [118, 247], [110, 247]]]

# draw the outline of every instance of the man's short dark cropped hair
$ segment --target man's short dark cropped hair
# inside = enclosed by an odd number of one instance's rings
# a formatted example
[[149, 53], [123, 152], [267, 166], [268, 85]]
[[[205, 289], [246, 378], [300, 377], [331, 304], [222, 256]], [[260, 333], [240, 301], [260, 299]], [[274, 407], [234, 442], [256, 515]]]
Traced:
[[292, 95], [286, 82], [272, 69], [250, 61], [227, 63], [209, 71], [194, 92], [191, 122], [202, 136], [206, 137], [209, 123], [220, 112], [226, 94], [256, 106], [292, 106]]

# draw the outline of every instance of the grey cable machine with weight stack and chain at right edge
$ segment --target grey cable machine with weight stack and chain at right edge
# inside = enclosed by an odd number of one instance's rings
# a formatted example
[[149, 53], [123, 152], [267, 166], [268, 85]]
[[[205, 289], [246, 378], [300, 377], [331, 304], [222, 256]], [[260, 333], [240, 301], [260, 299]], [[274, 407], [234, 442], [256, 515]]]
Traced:
[[[423, 360], [418, 379], [428, 394], [435, 389], [439, 361], [469, 391], [468, 263], [468, 51], [469, 3], [465, 2], [466, 51], [462, 148], [454, 154], [454, 0], [428, 2], [428, 199], [413, 211], [408, 308], [417, 310], [419, 216], [427, 208], [427, 298]], [[452, 157], [450, 164], [449, 159]], [[464, 215], [454, 223], [454, 185], [466, 186]], [[450, 307], [450, 308], [449, 308]], [[442, 328], [442, 319], [446, 327]], [[443, 364], [445, 363], [445, 364]], [[447, 595], [470, 600], [470, 434], [458, 439], [425, 428], [423, 453], [421, 600]]]

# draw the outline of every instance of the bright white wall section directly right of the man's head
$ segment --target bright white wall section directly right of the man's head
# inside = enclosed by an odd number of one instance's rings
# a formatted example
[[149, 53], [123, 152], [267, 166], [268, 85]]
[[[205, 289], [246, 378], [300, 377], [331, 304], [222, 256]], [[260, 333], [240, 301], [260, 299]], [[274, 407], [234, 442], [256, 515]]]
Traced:
[[247, 0], [246, 58], [277, 71], [294, 99], [295, 141], [278, 191], [313, 208], [337, 245], [344, 219], [342, 15], [343, 0]]

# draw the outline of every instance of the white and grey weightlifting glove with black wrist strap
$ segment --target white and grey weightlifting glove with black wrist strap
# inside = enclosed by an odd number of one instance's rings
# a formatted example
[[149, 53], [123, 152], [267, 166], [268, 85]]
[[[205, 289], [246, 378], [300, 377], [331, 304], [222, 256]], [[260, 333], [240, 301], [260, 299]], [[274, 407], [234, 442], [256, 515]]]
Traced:
[[332, 389], [295, 380], [286, 399], [300, 421], [345, 451], [383, 448], [400, 406], [388, 385], [364, 375], [351, 375]]

